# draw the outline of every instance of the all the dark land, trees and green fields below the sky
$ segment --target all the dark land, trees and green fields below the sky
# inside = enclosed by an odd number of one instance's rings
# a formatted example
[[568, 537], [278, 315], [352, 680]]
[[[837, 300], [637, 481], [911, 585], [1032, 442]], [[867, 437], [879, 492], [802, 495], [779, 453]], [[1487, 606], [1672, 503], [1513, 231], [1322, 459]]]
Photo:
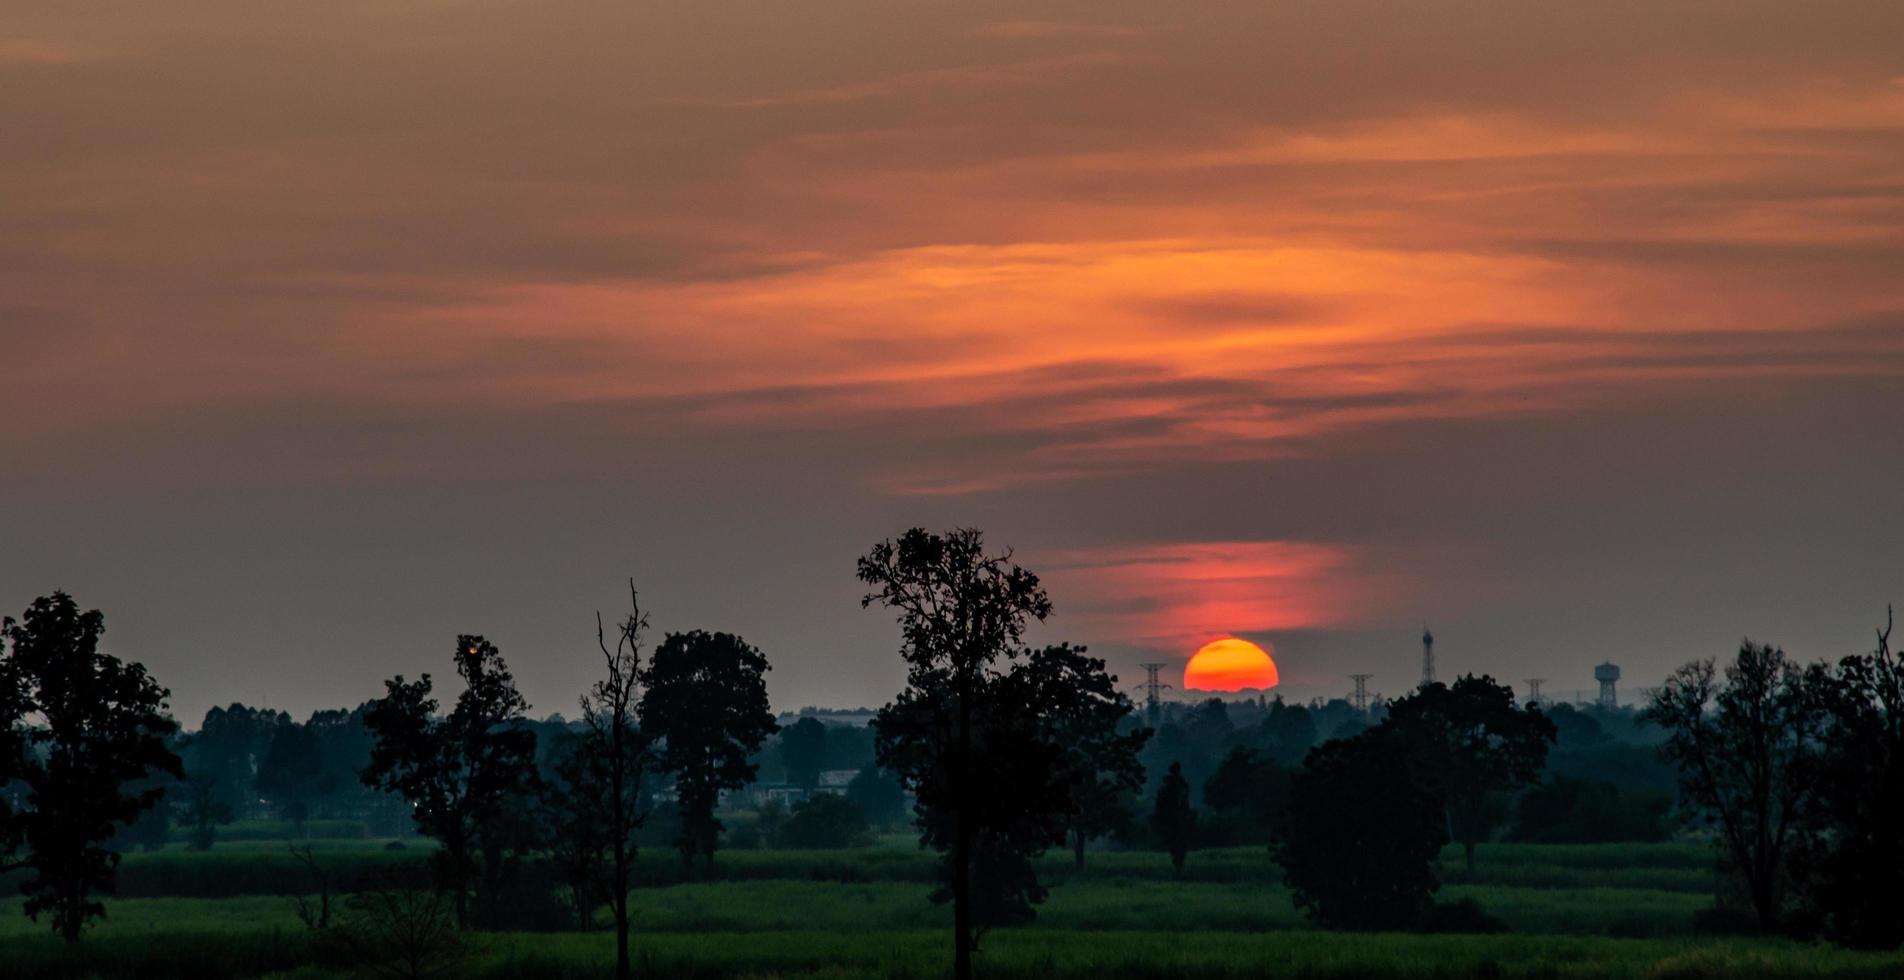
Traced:
[[[6, 976], [1896, 976], [1904, 672], [1746, 643], [1643, 712], [1489, 677], [1137, 712], [1022, 643], [975, 531], [859, 563], [908, 685], [773, 717], [767, 657], [598, 624], [581, 717], [459, 636], [305, 723], [194, 733], [105, 620], [0, 653]], [[1348, 936], [1344, 932], [1358, 932]], [[946, 942], [950, 938], [950, 942]]]

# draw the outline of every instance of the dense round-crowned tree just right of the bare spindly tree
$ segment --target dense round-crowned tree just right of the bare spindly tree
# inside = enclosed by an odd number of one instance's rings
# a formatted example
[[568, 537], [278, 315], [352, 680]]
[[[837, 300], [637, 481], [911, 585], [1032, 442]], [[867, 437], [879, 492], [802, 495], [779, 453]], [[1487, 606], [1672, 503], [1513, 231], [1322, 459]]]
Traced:
[[767, 658], [733, 634], [668, 634], [647, 666], [642, 725], [674, 773], [682, 832], [674, 847], [689, 868], [714, 862], [722, 790], [754, 778], [748, 757], [779, 725], [767, 710]]

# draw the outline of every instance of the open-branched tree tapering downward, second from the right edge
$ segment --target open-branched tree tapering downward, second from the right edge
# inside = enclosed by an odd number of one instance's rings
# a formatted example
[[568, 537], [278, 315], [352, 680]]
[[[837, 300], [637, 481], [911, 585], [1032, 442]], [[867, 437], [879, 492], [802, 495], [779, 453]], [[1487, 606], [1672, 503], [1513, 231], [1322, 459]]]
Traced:
[[1761, 929], [1784, 910], [1788, 858], [1816, 784], [1815, 681], [1782, 649], [1746, 641], [1719, 683], [1714, 660], [1676, 670], [1645, 717], [1666, 729], [1681, 799], [1717, 826]]

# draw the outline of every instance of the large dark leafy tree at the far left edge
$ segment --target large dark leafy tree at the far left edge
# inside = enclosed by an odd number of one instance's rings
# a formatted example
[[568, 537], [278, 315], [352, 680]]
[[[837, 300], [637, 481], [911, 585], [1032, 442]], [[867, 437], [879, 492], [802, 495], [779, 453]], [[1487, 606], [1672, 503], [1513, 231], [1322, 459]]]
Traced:
[[[99, 653], [105, 617], [65, 592], [0, 620], [0, 784], [19, 780], [27, 807], [0, 807], [0, 866], [25, 866], [25, 911], [51, 913], [67, 944], [105, 915], [118, 854], [103, 845], [158, 803], [152, 776], [181, 776], [166, 746], [169, 693], [145, 666]], [[25, 856], [15, 858], [19, 847]]]

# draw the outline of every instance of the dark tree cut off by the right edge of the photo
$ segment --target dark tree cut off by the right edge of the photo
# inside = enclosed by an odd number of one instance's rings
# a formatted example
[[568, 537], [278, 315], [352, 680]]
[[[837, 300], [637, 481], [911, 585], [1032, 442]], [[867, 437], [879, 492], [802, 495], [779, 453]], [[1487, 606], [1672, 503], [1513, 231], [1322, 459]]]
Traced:
[[[1889, 613], [1889, 611], [1887, 611]], [[1795, 839], [1807, 911], [1834, 942], [1904, 942], [1904, 657], [1891, 617], [1877, 649], [1815, 677], [1822, 710], [1818, 792]]]

